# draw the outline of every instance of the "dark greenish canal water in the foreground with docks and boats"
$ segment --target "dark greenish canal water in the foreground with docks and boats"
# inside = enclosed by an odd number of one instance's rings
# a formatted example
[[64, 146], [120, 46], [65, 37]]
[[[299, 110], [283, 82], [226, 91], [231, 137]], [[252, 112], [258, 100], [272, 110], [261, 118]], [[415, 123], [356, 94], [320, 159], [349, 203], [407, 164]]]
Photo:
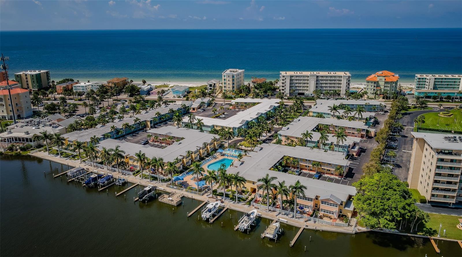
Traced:
[[[209, 224], [199, 213], [186, 217], [198, 201], [134, 203], [134, 189], [116, 198], [125, 187], [98, 192], [53, 178], [67, 169], [29, 156], [0, 157], [1, 256], [437, 256], [428, 239], [386, 233], [304, 230], [291, 248], [298, 231], [292, 226], [282, 225], [277, 242], [261, 239], [270, 220], [237, 232], [242, 213], [226, 211]], [[456, 242], [436, 242], [440, 256], [461, 256]]]

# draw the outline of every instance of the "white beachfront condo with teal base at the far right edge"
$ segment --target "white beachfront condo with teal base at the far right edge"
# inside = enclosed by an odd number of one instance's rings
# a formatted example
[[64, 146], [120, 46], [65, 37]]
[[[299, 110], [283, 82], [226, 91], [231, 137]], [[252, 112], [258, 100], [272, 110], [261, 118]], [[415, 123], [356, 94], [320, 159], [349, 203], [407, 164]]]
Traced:
[[415, 95], [421, 97], [438, 96], [451, 98], [462, 96], [462, 75], [415, 74]]

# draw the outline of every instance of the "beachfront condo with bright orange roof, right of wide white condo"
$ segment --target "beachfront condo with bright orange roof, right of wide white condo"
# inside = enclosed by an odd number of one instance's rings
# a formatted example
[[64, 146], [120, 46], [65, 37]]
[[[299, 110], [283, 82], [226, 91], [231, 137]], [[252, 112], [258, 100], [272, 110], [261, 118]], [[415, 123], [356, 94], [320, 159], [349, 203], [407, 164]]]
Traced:
[[398, 74], [389, 71], [379, 71], [366, 78], [365, 90], [370, 96], [391, 96], [398, 91]]

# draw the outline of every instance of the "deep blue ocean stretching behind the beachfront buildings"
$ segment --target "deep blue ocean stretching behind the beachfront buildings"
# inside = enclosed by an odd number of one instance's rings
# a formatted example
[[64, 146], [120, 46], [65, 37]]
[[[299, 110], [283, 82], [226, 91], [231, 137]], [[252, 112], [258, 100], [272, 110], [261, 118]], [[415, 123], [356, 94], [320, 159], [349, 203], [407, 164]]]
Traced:
[[227, 68], [245, 79], [280, 71], [462, 73], [462, 29], [2, 31], [10, 73], [50, 70], [52, 80], [206, 82]]

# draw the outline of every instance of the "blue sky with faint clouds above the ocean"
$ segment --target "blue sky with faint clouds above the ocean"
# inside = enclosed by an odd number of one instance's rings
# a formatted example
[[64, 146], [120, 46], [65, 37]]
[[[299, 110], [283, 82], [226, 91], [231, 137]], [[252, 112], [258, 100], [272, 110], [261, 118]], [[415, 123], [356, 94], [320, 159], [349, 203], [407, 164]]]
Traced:
[[462, 1], [0, 0], [0, 29], [462, 27]]

